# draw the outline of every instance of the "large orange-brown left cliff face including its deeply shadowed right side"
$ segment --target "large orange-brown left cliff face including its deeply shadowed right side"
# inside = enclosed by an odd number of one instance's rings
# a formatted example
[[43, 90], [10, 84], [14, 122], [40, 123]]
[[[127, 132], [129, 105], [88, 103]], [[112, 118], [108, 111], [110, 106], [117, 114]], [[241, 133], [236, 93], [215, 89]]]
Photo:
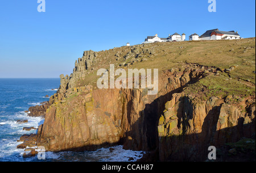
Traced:
[[52, 151], [96, 150], [121, 142], [125, 149], [153, 150], [158, 145], [156, 126], [164, 104], [172, 92], [202, 75], [200, 69], [165, 71], [158, 95], [147, 95], [146, 89], [76, 88], [73, 97], [69, 94], [47, 110], [38, 146]]

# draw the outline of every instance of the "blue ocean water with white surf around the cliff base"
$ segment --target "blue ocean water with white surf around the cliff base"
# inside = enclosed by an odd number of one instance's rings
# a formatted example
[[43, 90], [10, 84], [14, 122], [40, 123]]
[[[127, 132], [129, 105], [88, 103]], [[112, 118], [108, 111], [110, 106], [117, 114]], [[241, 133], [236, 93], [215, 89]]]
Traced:
[[[17, 142], [23, 134], [36, 133], [36, 130], [23, 130], [25, 126], [38, 128], [43, 124], [42, 117], [29, 117], [29, 107], [48, 101], [46, 95], [55, 94], [60, 79], [1, 79], [0, 78], [0, 162], [37, 162], [37, 161], [86, 161], [86, 162], [126, 162], [130, 157], [136, 161], [142, 157], [143, 151], [123, 150], [122, 145], [97, 151], [83, 152], [46, 152], [46, 159], [37, 157], [23, 158], [24, 149], [16, 149], [22, 144]], [[53, 89], [53, 90], [52, 90]], [[28, 123], [16, 124], [17, 120], [28, 120]], [[27, 152], [26, 152], [27, 153]]]

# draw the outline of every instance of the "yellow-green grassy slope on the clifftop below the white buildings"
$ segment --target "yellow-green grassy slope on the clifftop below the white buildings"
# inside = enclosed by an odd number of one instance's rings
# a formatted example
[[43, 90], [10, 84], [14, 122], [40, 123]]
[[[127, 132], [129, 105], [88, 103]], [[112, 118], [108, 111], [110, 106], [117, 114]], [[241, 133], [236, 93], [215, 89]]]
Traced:
[[[131, 58], [125, 60], [127, 53], [132, 49], [141, 52], [148, 49], [152, 55], [139, 54], [139, 58], [144, 61], [137, 61], [134, 64], [119, 66], [124, 62], [129, 62]], [[118, 54], [118, 56], [117, 56]], [[114, 48], [98, 52], [100, 61], [94, 65], [93, 71], [87, 74], [84, 79], [79, 80], [79, 86], [92, 84], [96, 86], [99, 76], [97, 69], [109, 69], [110, 64], [115, 64], [118, 68], [137, 69], [158, 69], [172, 68], [184, 69], [187, 63], [199, 64], [203, 66], [218, 67], [222, 71], [232, 66], [236, 69], [229, 74], [222, 72], [219, 76], [209, 75], [199, 82], [189, 86], [187, 92], [200, 92], [199, 88], [207, 88], [208, 95], [255, 95], [255, 37], [241, 40], [210, 40], [210, 41], [181, 41], [166, 43], [151, 43], [144, 45], [134, 45], [131, 47]]]

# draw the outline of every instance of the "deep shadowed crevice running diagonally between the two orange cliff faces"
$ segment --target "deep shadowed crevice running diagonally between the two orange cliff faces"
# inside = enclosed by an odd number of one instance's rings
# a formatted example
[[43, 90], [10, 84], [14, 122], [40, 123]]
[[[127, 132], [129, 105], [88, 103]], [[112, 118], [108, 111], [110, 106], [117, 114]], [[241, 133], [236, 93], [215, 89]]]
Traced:
[[[165, 86], [160, 88], [162, 92], [164, 91], [163, 94], [152, 100], [151, 103], [145, 104], [143, 111], [139, 112], [137, 122], [125, 133], [125, 149], [144, 151], [158, 150], [158, 123], [160, 116], [164, 112], [166, 102], [172, 99], [173, 94], [182, 92], [185, 87], [199, 81], [205, 76], [204, 71], [189, 68], [181, 73], [169, 73], [170, 71], [167, 71], [168, 82], [166, 82]], [[129, 113], [130, 111], [127, 112]], [[130, 117], [129, 115], [127, 116]], [[180, 120], [181, 117], [179, 121]]]

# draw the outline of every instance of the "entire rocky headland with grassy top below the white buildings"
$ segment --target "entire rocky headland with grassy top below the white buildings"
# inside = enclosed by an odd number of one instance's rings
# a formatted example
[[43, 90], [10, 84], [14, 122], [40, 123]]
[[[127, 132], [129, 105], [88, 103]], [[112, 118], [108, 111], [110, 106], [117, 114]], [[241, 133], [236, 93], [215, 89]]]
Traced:
[[[184, 42], [182, 47], [181, 43], [155, 43], [85, 51], [70, 76], [60, 75], [60, 88], [49, 99], [36, 145], [49, 151], [80, 151], [122, 144], [124, 149], [154, 150], [160, 161], [202, 161], [210, 145], [218, 147], [255, 135], [255, 83], [245, 79], [255, 81], [252, 72], [247, 73], [249, 67], [255, 67], [251, 63], [255, 46], [249, 52], [240, 51], [253, 40], [213, 43]], [[230, 56], [228, 62], [218, 60], [225, 51], [220, 49], [230, 44], [239, 47], [235, 49], [245, 57], [232, 67], [227, 63], [238, 62], [232, 52], [223, 54]], [[212, 58], [204, 57], [204, 49], [209, 47], [207, 53], [212, 47], [220, 51], [214, 56], [214, 66], [208, 63]], [[147, 88], [98, 89], [95, 72], [112, 63], [124, 69], [158, 68], [158, 94], [147, 95]]]

